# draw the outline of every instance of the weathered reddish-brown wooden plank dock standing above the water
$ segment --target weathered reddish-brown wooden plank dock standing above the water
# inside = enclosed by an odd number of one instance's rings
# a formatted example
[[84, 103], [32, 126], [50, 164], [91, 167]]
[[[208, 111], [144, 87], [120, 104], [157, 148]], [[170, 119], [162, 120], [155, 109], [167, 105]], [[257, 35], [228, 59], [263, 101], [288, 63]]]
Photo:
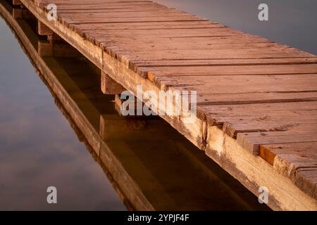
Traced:
[[255, 195], [266, 186], [273, 210], [317, 210], [317, 56], [151, 1], [20, 2], [101, 69], [104, 93], [108, 79], [197, 91], [194, 123], [163, 119]]

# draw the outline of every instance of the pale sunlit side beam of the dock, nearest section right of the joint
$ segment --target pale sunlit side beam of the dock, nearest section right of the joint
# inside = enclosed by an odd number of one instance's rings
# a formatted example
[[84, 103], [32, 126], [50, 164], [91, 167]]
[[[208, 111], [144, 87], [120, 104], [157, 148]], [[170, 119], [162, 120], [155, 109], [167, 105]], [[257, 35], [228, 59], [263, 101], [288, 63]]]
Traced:
[[[245, 152], [246, 150], [237, 144], [235, 139], [223, 134], [221, 129], [215, 126], [209, 127], [206, 154], [239, 179], [249, 190], [258, 191], [259, 186], [266, 186], [270, 192], [269, 202], [279, 205], [278, 202], [282, 201], [284, 203], [282, 205], [287, 205], [288, 210], [289, 207], [306, 202], [306, 197], [311, 196], [306, 195], [304, 191], [298, 193], [301, 188], [288, 176], [280, 174], [276, 168], [259, 156]], [[255, 182], [247, 182], [250, 180]], [[316, 202], [311, 204], [311, 207], [316, 207]], [[280, 210], [287, 208], [281, 207]]]

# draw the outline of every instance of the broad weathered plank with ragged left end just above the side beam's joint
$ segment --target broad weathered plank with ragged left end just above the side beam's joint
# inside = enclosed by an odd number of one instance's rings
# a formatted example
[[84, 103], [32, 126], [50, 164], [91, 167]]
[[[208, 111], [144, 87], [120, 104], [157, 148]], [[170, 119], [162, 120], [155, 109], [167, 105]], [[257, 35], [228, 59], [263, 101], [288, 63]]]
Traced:
[[299, 129], [305, 131], [316, 129], [316, 101], [201, 105], [199, 108], [206, 113], [209, 124], [223, 125], [223, 131], [230, 136], [252, 131], [289, 131]]

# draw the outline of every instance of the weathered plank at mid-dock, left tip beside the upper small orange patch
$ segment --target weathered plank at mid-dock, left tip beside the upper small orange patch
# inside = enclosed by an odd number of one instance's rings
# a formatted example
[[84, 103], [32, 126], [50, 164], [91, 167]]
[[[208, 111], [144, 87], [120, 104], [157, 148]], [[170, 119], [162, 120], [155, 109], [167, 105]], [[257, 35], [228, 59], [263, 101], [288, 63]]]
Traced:
[[[316, 91], [317, 75], [315, 74], [282, 74], [282, 70], [275, 70], [275, 66], [263, 66], [267, 68], [266, 72], [258, 70], [254, 66], [254, 70], [244, 70], [241, 73], [247, 75], [235, 75], [235, 71], [223, 70], [218, 68], [214, 70], [215, 74], [209, 76], [187, 76], [187, 77], [160, 77], [154, 79], [154, 84], [159, 89], [167, 91], [168, 89], [178, 89], [180, 91], [197, 91], [197, 94], [225, 94], [225, 93], [266, 93], [266, 92], [300, 92], [300, 91]], [[310, 68], [303, 68], [298, 72], [309, 73], [313, 72]], [[216, 74], [218, 73], [218, 75]], [[272, 75], [268, 75], [270, 73]], [[280, 72], [281, 75], [276, 75]], [[287, 72], [287, 66], [285, 66]], [[237, 72], [240, 73], [240, 72]], [[274, 84], [274, 85], [273, 85]]]

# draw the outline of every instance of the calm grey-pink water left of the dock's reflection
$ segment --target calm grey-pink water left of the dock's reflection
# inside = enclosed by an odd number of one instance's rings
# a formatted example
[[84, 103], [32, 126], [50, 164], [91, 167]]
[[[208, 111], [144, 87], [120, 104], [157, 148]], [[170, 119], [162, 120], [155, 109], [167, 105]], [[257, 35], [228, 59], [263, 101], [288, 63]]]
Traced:
[[2, 19], [0, 40], [0, 210], [125, 210]]

